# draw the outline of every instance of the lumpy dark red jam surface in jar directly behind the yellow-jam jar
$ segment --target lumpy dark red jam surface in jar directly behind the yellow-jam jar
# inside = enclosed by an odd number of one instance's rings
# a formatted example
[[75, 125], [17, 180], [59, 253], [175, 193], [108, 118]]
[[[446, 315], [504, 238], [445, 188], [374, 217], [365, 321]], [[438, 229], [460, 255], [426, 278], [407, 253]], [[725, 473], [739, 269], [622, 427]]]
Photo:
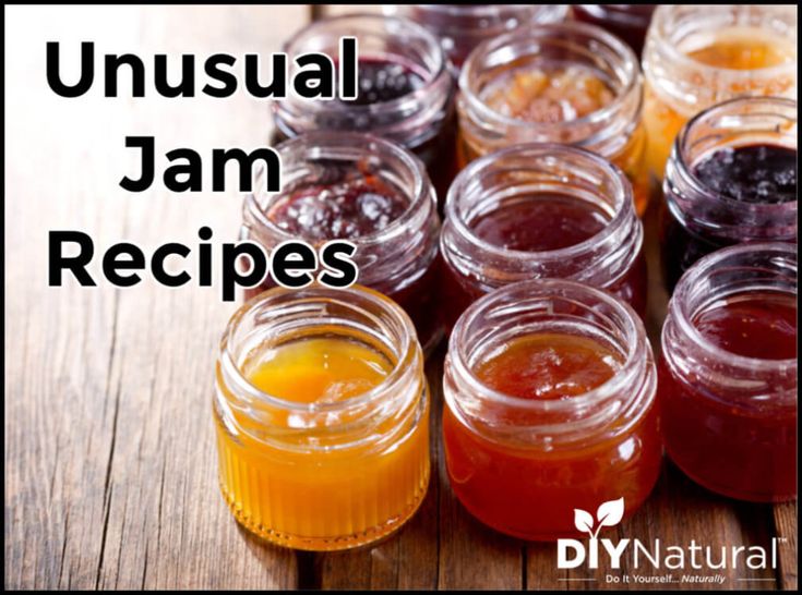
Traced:
[[378, 175], [331, 167], [327, 183], [290, 190], [267, 210], [276, 226], [304, 240], [363, 238], [385, 229], [409, 206]]

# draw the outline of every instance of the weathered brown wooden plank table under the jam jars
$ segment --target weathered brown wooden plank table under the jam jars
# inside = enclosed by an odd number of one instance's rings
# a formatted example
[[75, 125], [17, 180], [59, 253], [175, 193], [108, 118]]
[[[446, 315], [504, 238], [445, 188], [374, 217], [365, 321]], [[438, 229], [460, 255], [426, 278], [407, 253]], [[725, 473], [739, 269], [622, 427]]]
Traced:
[[[136, 171], [125, 135], [154, 134], [160, 154], [251, 147], [271, 123], [267, 106], [244, 95], [107, 99], [93, 88], [81, 99], [59, 98], [46, 86], [45, 41], [60, 40], [73, 66], [80, 40], [94, 40], [98, 52], [140, 56], [268, 52], [311, 13], [303, 5], [8, 9], [5, 586], [643, 588], [608, 585], [615, 572], [603, 568], [559, 572], [553, 545], [503, 537], [460, 508], [439, 439], [442, 350], [429, 365], [435, 473], [407, 526], [346, 554], [264, 545], [238, 527], [216, 479], [213, 366], [236, 305], [220, 302], [217, 288], [151, 280], [124, 290], [103, 280], [92, 289], [47, 287], [51, 229], [86, 231], [98, 252], [122, 240], [192, 245], [203, 224], [219, 242], [236, 236], [235, 192], [170, 195], [160, 184], [123, 192], [120, 178]], [[649, 256], [655, 265], [654, 246]], [[653, 340], [666, 304], [654, 281]], [[723, 586], [797, 586], [794, 503], [718, 498], [668, 464], [654, 496], [615, 533], [711, 546], [768, 546], [778, 536], [776, 572], [729, 570]]]

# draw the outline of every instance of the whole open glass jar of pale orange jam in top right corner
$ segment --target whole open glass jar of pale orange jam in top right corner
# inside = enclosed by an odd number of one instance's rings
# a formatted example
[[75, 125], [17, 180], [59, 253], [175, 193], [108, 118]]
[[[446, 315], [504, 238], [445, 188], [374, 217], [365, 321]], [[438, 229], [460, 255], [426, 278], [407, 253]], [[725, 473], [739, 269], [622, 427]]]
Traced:
[[660, 5], [643, 63], [648, 168], [662, 179], [696, 113], [735, 97], [797, 98], [797, 7]]

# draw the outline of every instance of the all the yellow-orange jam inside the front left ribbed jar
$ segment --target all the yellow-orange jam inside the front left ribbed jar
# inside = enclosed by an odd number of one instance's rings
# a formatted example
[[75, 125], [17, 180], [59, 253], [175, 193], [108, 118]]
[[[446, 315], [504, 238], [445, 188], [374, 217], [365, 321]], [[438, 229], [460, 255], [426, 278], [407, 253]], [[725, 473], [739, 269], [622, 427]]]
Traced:
[[[381, 403], [349, 406], [395, 365], [343, 336], [300, 339], [246, 360], [241, 371], [254, 387], [310, 405], [265, 404], [261, 422], [232, 408], [234, 433], [217, 415], [223, 493], [246, 527], [280, 545], [326, 550], [372, 542], [411, 517], [429, 482], [426, 394], [410, 415], [375, 423], [366, 410]], [[415, 415], [421, 405], [423, 415]]]

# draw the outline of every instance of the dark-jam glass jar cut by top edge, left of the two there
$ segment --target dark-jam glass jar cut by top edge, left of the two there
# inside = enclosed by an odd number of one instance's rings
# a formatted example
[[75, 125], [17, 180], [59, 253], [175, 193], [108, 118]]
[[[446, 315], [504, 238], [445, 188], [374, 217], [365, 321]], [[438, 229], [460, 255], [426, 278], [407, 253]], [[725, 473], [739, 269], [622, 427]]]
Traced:
[[566, 4], [386, 4], [386, 14], [406, 16], [440, 38], [458, 70], [470, 51], [486, 39], [536, 23], [565, 19]]

